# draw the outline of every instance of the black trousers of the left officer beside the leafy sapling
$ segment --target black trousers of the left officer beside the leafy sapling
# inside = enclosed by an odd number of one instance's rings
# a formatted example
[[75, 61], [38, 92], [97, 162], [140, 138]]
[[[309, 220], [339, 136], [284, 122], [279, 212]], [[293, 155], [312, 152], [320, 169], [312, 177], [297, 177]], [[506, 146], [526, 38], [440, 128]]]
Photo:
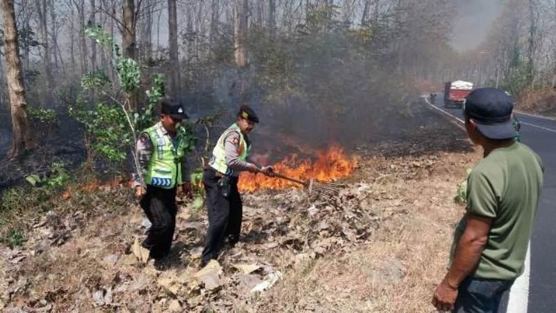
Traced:
[[140, 205], [152, 226], [142, 246], [150, 250], [154, 259], [170, 252], [176, 229], [176, 188], [165, 189], [147, 185], [147, 193]]

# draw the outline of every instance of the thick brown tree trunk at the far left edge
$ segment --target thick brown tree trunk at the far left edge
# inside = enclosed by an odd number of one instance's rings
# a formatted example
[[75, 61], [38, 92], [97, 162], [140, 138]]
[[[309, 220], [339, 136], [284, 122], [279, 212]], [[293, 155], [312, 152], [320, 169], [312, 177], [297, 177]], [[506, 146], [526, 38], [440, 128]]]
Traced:
[[22, 61], [19, 58], [17, 26], [13, 0], [0, 0], [6, 42], [6, 80], [10, 95], [13, 141], [8, 157], [13, 158], [35, 147], [31, 124], [27, 119], [25, 88], [23, 85]]

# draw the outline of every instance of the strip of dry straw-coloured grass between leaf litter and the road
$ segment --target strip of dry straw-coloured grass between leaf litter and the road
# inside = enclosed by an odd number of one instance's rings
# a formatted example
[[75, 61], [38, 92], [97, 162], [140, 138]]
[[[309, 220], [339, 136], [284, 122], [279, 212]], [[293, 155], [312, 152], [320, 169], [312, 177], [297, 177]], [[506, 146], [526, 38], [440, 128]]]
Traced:
[[429, 177], [385, 184], [402, 198], [373, 203], [395, 213], [366, 245], [289, 272], [257, 311], [434, 312], [432, 292], [445, 273], [452, 225], [463, 211], [452, 200], [454, 189], [476, 158], [445, 154]]

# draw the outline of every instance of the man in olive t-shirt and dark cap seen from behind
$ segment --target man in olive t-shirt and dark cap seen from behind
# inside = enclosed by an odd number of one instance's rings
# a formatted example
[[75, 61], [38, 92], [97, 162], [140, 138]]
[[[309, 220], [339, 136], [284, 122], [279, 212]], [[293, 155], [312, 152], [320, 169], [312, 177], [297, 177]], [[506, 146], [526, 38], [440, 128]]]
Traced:
[[474, 90], [466, 99], [468, 136], [482, 146], [484, 159], [468, 177], [466, 214], [432, 300], [439, 310], [498, 312], [502, 294], [523, 273], [543, 165], [514, 141], [512, 109], [512, 99], [496, 88]]

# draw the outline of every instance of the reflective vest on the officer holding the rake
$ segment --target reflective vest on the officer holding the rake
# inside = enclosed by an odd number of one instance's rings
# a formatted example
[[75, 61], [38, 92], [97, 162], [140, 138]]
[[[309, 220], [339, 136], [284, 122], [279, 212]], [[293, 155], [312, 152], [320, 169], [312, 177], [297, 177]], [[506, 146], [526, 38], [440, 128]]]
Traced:
[[243, 136], [240, 128], [236, 123], [234, 123], [233, 125], [228, 127], [228, 129], [226, 129], [226, 131], [224, 131], [222, 135], [220, 135], [220, 138], [218, 138], [218, 142], [213, 149], [211, 161], [208, 164], [211, 166], [211, 168], [218, 170], [218, 172], [221, 172], [224, 175], [237, 177], [239, 175], [239, 172], [237, 170], [232, 170], [231, 168], [229, 168], [228, 164], [226, 163], [226, 149], [224, 147], [224, 141], [226, 140], [226, 137], [233, 132], [238, 133], [240, 138], [238, 151], [239, 159], [242, 161], [247, 160], [247, 157], [249, 156], [249, 152], [251, 150], [251, 146], [247, 144], [247, 141], [245, 141], [245, 137]]

